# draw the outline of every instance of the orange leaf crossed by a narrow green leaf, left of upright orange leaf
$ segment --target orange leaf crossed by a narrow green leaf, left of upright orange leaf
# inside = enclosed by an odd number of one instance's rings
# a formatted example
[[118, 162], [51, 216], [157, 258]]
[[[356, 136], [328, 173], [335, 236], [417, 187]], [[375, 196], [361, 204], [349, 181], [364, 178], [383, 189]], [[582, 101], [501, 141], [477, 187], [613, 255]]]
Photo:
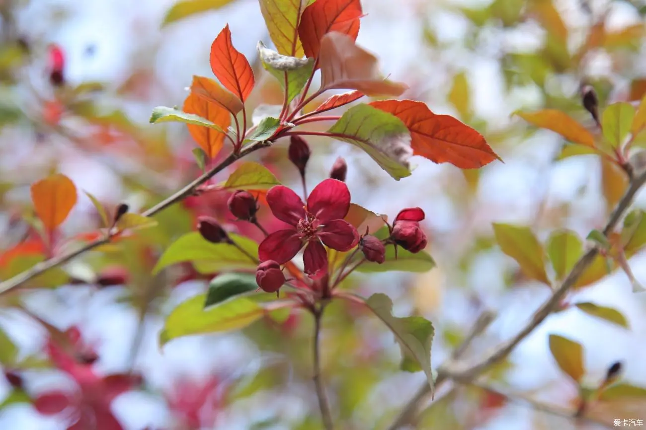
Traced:
[[[191, 92], [182, 108], [187, 114], [196, 114], [206, 118], [222, 130], [227, 130], [231, 124], [231, 114], [229, 111], [216, 103], [210, 103], [203, 97]], [[188, 124], [189, 132], [198, 145], [206, 152], [209, 158], [215, 158], [224, 145], [225, 134], [211, 127], [202, 127], [201, 125]]]

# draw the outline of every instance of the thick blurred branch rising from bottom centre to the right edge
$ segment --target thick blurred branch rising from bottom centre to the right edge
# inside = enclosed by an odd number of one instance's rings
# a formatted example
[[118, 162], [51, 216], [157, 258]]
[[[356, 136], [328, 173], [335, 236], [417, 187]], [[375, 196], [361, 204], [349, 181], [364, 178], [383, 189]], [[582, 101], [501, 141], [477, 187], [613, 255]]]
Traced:
[[[617, 207], [614, 209], [610, 215], [610, 220], [605, 225], [603, 229], [603, 234], [608, 236], [616, 225], [621, 220], [621, 217], [630, 207], [632, 200], [634, 199], [637, 192], [640, 188], [646, 183], [646, 171], [639, 172], [636, 176], [630, 181], [630, 186], [626, 190], [625, 194], [619, 201]], [[599, 250], [594, 247], [588, 252], [583, 254], [583, 256], [576, 262], [572, 271], [568, 274], [567, 278], [563, 280], [560, 287], [558, 287], [548, 298], [545, 303], [543, 303], [532, 315], [532, 318], [526, 325], [510, 340], [498, 345], [490, 351], [490, 353], [485, 355], [485, 358], [481, 358], [474, 362], [465, 362], [462, 360], [448, 360], [448, 362], [443, 363], [439, 369], [437, 369], [437, 382], [440, 384], [446, 379], [452, 379], [457, 382], [462, 382], [469, 384], [474, 380], [479, 374], [483, 373], [491, 365], [503, 360], [508, 354], [510, 354], [516, 345], [518, 345], [525, 337], [532, 333], [536, 327], [547, 318], [549, 314], [557, 308], [558, 304], [561, 302], [561, 299], [565, 294], [572, 288], [572, 286], [579, 279], [579, 276], [587, 269], [587, 267], [594, 261], [594, 258], [599, 253]], [[393, 422], [393, 424], [388, 427], [389, 430], [396, 430], [405, 425], [410, 418], [412, 418], [412, 413], [417, 409], [417, 404], [424, 399], [426, 394], [430, 391], [430, 387], [424, 384], [423, 387], [415, 393], [413, 398], [406, 404], [404, 411], [408, 411], [406, 415], [401, 413], [398, 418]]]

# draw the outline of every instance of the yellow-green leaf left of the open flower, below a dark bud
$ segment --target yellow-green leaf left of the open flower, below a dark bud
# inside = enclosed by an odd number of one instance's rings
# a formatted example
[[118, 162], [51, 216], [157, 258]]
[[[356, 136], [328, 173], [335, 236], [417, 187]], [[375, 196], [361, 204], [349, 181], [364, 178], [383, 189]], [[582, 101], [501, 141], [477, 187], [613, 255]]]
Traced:
[[[229, 237], [251, 256], [258, 258], [258, 243], [237, 234], [230, 233]], [[257, 265], [234, 245], [211, 243], [199, 232], [190, 232], [180, 236], [166, 249], [152, 269], [152, 274], [183, 261], [193, 261], [195, 269], [201, 273], [255, 269]]]

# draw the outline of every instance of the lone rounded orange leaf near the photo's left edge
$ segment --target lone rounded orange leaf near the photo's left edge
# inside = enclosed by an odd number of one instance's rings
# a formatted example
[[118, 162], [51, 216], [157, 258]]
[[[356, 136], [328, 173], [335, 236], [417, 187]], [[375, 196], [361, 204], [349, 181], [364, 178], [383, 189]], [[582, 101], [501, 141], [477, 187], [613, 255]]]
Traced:
[[32, 185], [32, 201], [45, 229], [54, 230], [76, 205], [76, 186], [63, 174], [54, 174]]

